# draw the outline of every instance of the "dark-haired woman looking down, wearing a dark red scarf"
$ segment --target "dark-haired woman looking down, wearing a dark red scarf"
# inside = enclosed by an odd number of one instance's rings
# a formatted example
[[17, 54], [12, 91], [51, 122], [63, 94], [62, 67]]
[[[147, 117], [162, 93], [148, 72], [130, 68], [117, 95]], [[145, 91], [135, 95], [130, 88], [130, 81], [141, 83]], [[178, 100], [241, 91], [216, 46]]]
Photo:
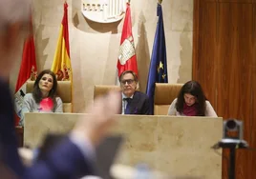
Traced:
[[182, 86], [178, 97], [170, 105], [168, 115], [217, 117], [197, 81], [188, 81]]

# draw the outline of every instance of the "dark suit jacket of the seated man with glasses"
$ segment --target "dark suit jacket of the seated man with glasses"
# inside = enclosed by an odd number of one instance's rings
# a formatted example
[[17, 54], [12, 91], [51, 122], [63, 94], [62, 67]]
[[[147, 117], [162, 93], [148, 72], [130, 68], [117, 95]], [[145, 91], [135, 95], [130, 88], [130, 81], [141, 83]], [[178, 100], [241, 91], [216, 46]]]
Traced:
[[135, 91], [133, 99], [129, 103], [129, 111], [127, 114], [144, 114], [149, 115], [149, 99], [146, 94]]

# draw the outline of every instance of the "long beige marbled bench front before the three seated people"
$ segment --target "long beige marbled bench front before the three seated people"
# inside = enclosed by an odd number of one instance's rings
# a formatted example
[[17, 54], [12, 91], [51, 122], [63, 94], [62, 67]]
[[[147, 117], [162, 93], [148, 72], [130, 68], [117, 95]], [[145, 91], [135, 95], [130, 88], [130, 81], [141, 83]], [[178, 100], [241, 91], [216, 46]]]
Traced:
[[[24, 144], [34, 148], [47, 132], [67, 133], [86, 115], [26, 113]], [[222, 156], [211, 149], [222, 139], [222, 118], [117, 115], [117, 121], [111, 132], [125, 136], [117, 164], [146, 163], [170, 176], [222, 178]]]

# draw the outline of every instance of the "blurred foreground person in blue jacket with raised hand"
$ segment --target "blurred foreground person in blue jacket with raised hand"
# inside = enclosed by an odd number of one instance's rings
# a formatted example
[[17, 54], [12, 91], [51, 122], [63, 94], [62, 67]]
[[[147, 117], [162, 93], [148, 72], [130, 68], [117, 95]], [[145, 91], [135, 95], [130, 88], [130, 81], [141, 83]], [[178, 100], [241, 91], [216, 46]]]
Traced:
[[120, 96], [112, 92], [96, 100], [71, 133], [54, 147], [45, 160], [26, 169], [17, 151], [14, 129], [14, 109], [8, 78], [29, 32], [29, 0], [0, 0], [0, 163], [16, 178], [59, 179], [78, 178], [94, 174], [94, 151], [107, 129], [114, 123]]

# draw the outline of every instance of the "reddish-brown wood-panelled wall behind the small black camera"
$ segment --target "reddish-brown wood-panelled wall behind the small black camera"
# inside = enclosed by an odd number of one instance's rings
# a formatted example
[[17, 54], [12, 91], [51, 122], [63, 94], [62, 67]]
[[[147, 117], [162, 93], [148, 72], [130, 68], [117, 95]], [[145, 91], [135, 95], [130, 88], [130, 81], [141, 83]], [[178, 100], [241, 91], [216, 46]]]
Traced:
[[[194, 0], [193, 79], [219, 116], [244, 121], [251, 148], [256, 148], [255, 17], [255, 0]], [[236, 178], [256, 179], [255, 150], [237, 151]]]

